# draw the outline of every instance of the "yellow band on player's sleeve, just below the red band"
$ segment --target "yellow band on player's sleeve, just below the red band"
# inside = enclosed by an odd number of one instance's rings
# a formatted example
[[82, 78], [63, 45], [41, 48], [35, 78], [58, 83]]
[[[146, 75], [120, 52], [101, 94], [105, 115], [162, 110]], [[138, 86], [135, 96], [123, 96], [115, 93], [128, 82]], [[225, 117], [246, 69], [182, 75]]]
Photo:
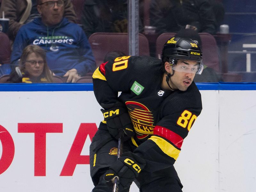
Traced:
[[151, 136], [150, 140], [154, 141], [156, 145], [168, 156], [172, 157], [173, 159], [177, 160], [180, 155], [180, 150], [176, 149], [172, 146], [169, 142], [162, 139], [161, 137]]

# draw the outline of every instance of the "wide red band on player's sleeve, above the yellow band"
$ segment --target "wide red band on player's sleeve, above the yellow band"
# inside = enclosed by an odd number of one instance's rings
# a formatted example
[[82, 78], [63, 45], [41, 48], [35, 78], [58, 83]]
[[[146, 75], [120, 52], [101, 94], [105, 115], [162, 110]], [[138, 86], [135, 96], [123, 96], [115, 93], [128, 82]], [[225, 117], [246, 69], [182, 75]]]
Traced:
[[181, 145], [183, 143], [183, 138], [180, 135], [158, 125], [156, 125], [154, 128], [154, 135], [159, 135], [171, 141], [178, 148], [181, 148]]

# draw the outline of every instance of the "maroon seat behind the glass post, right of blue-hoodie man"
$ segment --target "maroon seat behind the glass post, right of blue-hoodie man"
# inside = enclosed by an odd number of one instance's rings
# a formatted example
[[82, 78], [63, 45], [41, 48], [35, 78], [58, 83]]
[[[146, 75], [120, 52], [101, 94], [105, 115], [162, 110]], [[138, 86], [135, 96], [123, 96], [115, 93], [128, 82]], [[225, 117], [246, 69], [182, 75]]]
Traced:
[[[110, 51], [121, 51], [129, 54], [127, 33], [93, 33], [89, 37], [92, 53], [98, 67], [104, 60], [105, 55]], [[149, 56], [148, 39], [139, 34], [139, 55]]]

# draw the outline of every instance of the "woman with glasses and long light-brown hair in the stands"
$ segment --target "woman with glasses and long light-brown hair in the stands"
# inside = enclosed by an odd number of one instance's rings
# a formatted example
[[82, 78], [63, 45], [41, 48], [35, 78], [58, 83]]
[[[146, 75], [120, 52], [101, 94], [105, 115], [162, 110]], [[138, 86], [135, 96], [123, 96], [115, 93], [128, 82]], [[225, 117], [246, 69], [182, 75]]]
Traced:
[[47, 66], [44, 49], [28, 45], [20, 57], [20, 66], [12, 71], [10, 83], [52, 83], [52, 73]]

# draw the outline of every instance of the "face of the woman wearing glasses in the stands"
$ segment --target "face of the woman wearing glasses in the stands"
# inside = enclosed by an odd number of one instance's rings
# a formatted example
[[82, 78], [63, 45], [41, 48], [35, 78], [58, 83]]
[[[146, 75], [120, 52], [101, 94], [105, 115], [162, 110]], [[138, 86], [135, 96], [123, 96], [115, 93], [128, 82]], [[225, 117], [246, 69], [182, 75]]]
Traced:
[[35, 53], [29, 54], [25, 63], [25, 70], [32, 77], [40, 76], [44, 70], [44, 59]]

